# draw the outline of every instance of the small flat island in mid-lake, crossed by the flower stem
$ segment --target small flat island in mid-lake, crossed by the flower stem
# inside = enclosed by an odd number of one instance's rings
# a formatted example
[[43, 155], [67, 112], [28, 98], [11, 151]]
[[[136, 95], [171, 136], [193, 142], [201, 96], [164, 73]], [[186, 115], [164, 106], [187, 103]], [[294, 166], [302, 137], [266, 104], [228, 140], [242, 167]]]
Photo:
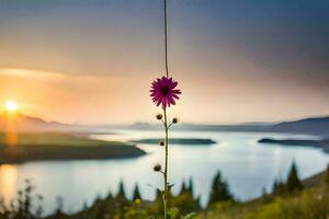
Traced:
[[[158, 145], [162, 139], [160, 138], [147, 138], [140, 140], [134, 140], [134, 143], [147, 143], [147, 145]], [[171, 138], [169, 139], [169, 143], [171, 145], [190, 145], [190, 146], [204, 146], [204, 145], [214, 145], [216, 141], [212, 139], [203, 139], [203, 138]]]

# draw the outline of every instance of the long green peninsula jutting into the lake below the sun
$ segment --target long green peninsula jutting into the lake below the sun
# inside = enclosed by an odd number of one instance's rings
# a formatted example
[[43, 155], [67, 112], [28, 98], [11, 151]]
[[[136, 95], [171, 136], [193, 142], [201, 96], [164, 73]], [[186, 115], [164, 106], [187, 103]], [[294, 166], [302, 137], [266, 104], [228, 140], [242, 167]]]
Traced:
[[88, 139], [70, 134], [18, 134], [13, 146], [0, 134], [0, 164], [36, 160], [134, 158], [145, 152], [134, 145]]

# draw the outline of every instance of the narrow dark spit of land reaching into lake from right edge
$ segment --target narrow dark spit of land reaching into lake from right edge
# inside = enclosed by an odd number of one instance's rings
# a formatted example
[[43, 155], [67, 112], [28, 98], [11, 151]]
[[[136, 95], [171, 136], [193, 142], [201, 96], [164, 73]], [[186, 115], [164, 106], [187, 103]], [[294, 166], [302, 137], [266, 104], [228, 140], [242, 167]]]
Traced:
[[263, 138], [258, 141], [259, 143], [275, 143], [282, 146], [298, 146], [298, 147], [314, 147], [320, 148], [325, 152], [329, 153], [329, 139], [320, 140], [303, 140], [303, 139], [271, 139]]

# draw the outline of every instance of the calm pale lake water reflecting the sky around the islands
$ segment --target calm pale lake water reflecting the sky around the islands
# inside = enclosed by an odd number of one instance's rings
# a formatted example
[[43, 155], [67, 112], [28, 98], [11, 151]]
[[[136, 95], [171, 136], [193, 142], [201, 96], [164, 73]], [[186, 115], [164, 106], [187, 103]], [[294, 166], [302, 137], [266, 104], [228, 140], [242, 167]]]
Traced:
[[[116, 130], [118, 135], [94, 135], [90, 138], [103, 140], [132, 140], [159, 138], [159, 131]], [[260, 138], [299, 138], [316, 137], [283, 134], [257, 132], [196, 132], [177, 131], [172, 137], [211, 138], [213, 146], [171, 146], [170, 182], [178, 193], [182, 182], [193, 178], [195, 195], [201, 195], [205, 204], [215, 173], [220, 170], [229, 183], [234, 195], [247, 200], [261, 195], [262, 187], [272, 187], [275, 177], [285, 178], [295, 160], [299, 176], [305, 178], [322, 171], [329, 155], [321, 150], [302, 147], [281, 147], [261, 145]], [[0, 193], [7, 199], [14, 197], [25, 178], [32, 178], [36, 193], [44, 196], [44, 206], [52, 212], [56, 197], [64, 198], [66, 211], [79, 210], [83, 203], [89, 205], [97, 196], [105, 196], [110, 191], [116, 193], [121, 180], [131, 196], [135, 183], [138, 183], [144, 198], [155, 197], [155, 187], [161, 186], [161, 177], [152, 172], [152, 165], [162, 161], [159, 146], [139, 145], [148, 155], [137, 159], [107, 161], [66, 161], [31, 162], [20, 165], [0, 166]]]

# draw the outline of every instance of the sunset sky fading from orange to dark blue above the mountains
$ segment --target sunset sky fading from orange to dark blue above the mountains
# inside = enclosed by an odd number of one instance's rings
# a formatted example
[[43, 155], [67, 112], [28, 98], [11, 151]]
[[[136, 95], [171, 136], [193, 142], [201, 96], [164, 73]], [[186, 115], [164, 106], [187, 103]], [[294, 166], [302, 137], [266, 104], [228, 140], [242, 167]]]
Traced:
[[[0, 103], [79, 124], [155, 122], [162, 0], [0, 0]], [[329, 115], [329, 1], [168, 0], [185, 123]]]

